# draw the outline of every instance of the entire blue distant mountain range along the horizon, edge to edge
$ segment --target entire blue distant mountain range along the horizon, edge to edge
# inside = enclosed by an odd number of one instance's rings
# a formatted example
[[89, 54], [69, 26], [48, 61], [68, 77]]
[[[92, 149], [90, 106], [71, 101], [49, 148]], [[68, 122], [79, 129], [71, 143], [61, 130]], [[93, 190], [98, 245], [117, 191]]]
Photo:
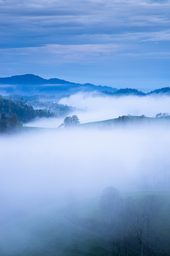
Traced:
[[150, 95], [158, 93], [170, 94], [170, 88], [164, 87], [148, 93], [138, 91], [137, 89], [125, 88], [116, 89], [110, 86], [101, 86], [94, 84], [76, 84], [63, 79], [50, 78], [44, 79], [40, 76], [33, 74], [26, 74], [20, 76], [11, 77], [0, 77], [0, 94], [20, 94], [20, 95], [40, 95], [45, 94], [46, 96], [61, 96], [61, 95], [72, 95], [77, 92], [98, 92], [100, 94], [107, 95]]

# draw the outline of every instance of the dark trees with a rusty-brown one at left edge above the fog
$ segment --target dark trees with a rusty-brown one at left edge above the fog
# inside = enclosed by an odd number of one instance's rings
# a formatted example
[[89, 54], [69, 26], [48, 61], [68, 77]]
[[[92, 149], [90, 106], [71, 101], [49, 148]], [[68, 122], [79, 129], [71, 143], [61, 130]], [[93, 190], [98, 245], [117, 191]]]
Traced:
[[0, 132], [16, 131], [20, 126], [22, 123], [18, 121], [16, 114], [9, 116], [8, 120], [4, 113], [1, 114]]

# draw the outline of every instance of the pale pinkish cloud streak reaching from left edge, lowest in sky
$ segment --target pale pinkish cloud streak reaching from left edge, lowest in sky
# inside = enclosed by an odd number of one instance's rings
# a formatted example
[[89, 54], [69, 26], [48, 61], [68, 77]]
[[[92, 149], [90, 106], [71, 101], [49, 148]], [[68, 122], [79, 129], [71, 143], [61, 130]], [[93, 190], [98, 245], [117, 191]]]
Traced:
[[[0, 49], [0, 54], [5, 57], [18, 55], [50, 56], [53, 60], [92, 60], [92, 58], [110, 56], [124, 48], [122, 44], [84, 44], [84, 45], [60, 45], [48, 44], [40, 47]], [[36, 59], [36, 58], [35, 58]]]

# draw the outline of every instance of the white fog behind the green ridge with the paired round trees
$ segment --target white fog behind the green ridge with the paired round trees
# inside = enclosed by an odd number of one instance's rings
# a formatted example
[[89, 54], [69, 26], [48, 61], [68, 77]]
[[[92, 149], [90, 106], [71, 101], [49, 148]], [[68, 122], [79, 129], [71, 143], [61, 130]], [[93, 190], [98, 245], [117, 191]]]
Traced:
[[[98, 94], [78, 93], [62, 98], [59, 103], [67, 104], [84, 111], [75, 111], [70, 115], [77, 115], [80, 123], [88, 123], [117, 118], [123, 115], [155, 117], [157, 113], [170, 113], [170, 97], [164, 95], [148, 96], [105, 96]], [[39, 119], [27, 123], [28, 126], [56, 128], [63, 123], [64, 118]]]

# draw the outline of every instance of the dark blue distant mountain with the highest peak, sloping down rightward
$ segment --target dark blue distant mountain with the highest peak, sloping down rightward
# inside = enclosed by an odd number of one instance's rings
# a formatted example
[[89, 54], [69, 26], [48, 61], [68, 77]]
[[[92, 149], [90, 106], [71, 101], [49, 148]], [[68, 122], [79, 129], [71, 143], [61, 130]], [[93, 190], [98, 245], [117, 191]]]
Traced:
[[46, 94], [63, 95], [74, 94], [77, 92], [92, 92], [107, 90], [115, 92], [117, 89], [109, 86], [94, 84], [76, 84], [58, 78], [44, 79], [40, 76], [26, 74], [21, 76], [1, 77], [0, 93], [18, 93], [18, 94]]

